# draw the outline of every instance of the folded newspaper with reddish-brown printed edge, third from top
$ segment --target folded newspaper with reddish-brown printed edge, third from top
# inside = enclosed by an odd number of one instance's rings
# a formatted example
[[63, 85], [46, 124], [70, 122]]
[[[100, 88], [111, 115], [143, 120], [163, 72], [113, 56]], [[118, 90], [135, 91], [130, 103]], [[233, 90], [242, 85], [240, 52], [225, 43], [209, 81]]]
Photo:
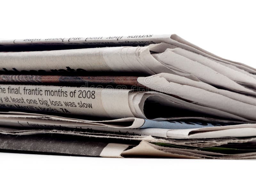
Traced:
[[[156, 86], [155, 81], [166, 81], [178, 83], [180, 85], [188, 85], [200, 89], [204, 89], [210, 92], [218, 93], [220, 95], [229, 97], [234, 100], [241, 101], [247, 104], [256, 105], [256, 99], [253, 97], [248, 97], [242, 94], [231, 92], [228, 90], [217, 89], [207, 83], [201, 81], [191, 80], [182, 76], [160, 73], [148, 77], [138, 77], [138, 76], [67, 76], [67, 75], [8, 75], [0, 74], [0, 82], [2, 83], [15, 83], [15, 84], [52, 84], [52, 85], [80, 85], [83, 87], [113, 87], [113, 88], [127, 88], [132, 90], [152, 90], [148, 87], [148, 84], [153, 84]], [[153, 82], [154, 81], [154, 82]], [[163, 81], [164, 82], [164, 81]], [[159, 85], [159, 84], [158, 84]], [[169, 84], [171, 86], [171, 84]], [[160, 85], [154, 90], [165, 92], [166, 90], [159, 90]], [[171, 87], [169, 88], [169, 93], [172, 94]]]

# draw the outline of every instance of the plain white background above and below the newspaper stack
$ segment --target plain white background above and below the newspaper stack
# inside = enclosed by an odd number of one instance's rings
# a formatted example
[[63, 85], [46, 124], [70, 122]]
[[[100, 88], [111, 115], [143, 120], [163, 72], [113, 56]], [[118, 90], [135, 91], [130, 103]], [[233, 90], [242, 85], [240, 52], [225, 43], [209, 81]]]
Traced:
[[[253, 0], [2, 1], [0, 38], [177, 34], [220, 57], [256, 67], [255, 7]], [[144, 167], [142, 169], [209, 170], [222, 169], [220, 167], [228, 169], [229, 166], [242, 169], [256, 162], [121, 160], [0, 153], [0, 163], [1, 169], [32, 169], [32, 166], [28, 166], [31, 163], [34, 169], [73, 169], [72, 166], [76, 166], [76, 169], [93, 169], [92, 165], [96, 165], [96, 169], [133, 169], [134, 166], [140, 166]]]

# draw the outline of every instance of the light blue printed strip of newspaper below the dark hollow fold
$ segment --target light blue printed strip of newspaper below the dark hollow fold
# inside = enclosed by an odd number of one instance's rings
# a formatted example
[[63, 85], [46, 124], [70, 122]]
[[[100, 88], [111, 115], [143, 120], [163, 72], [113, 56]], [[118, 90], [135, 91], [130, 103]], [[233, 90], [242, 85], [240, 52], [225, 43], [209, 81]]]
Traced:
[[145, 119], [145, 123], [140, 128], [162, 128], [162, 129], [192, 129], [206, 128], [214, 126], [226, 126], [221, 123], [207, 122], [181, 122], [181, 121], [154, 121]]

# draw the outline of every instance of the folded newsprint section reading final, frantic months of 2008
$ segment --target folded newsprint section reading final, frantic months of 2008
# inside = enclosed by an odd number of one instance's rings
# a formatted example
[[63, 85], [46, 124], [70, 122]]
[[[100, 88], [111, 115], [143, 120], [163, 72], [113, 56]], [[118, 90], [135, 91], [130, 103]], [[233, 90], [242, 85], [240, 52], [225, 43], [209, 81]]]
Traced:
[[[107, 89], [87, 87], [60, 87], [36, 85], [0, 85], [0, 107], [30, 111], [76, 114], [105, 118], [136, 117], [147, 119], [145, 103], [149, 107], [176, 107], [191, 111], [213, 110], [154, 91], [132, 91], [129, 89]], [[162, 107], [157, 108], [158, 111]], [[204, 110], [203, 110], [204, 109]], [[162, 108], [165, 114], [168, 110]], [[218, 111], [216, 111], [218, 112]], [[220, 111], [221, 112], [221, 111]], [[228, 114], [232, 117], [232, 114]], [[161, 115], [155, 115], [158, 117]], [[238, 116], [234, 116], [238, 117]]]

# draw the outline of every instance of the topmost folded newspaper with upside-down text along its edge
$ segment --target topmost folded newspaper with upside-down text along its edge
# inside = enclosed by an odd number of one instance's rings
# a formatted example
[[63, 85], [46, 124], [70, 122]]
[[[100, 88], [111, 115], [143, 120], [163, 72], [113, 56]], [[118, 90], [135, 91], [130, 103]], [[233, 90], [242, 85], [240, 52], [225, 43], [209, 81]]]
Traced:
[[[221, 40], [220, 41], [224, 41]], [[244, 73], [256, 73], [255, 68], [244, 65], [242, 63], [220, 58], [188, 41], [179, 37], [178, 35], [128, 35], [128, 36], [109, 36], [109, 37], [70, 37], [70, 38], [34, 38], [34, 39], [21, 39], [21, 40], [0, 40], [0, 49], [6, 47], [21, 46], [78, 46], [80, 48], [90, 46], [143, 46], [156, 43], [168, 43], [175, 47], [182, 48], [194, 53], [200, 54], [210, 58], [222, 65], [226, 65], [237, 71], [244, 71]]]

